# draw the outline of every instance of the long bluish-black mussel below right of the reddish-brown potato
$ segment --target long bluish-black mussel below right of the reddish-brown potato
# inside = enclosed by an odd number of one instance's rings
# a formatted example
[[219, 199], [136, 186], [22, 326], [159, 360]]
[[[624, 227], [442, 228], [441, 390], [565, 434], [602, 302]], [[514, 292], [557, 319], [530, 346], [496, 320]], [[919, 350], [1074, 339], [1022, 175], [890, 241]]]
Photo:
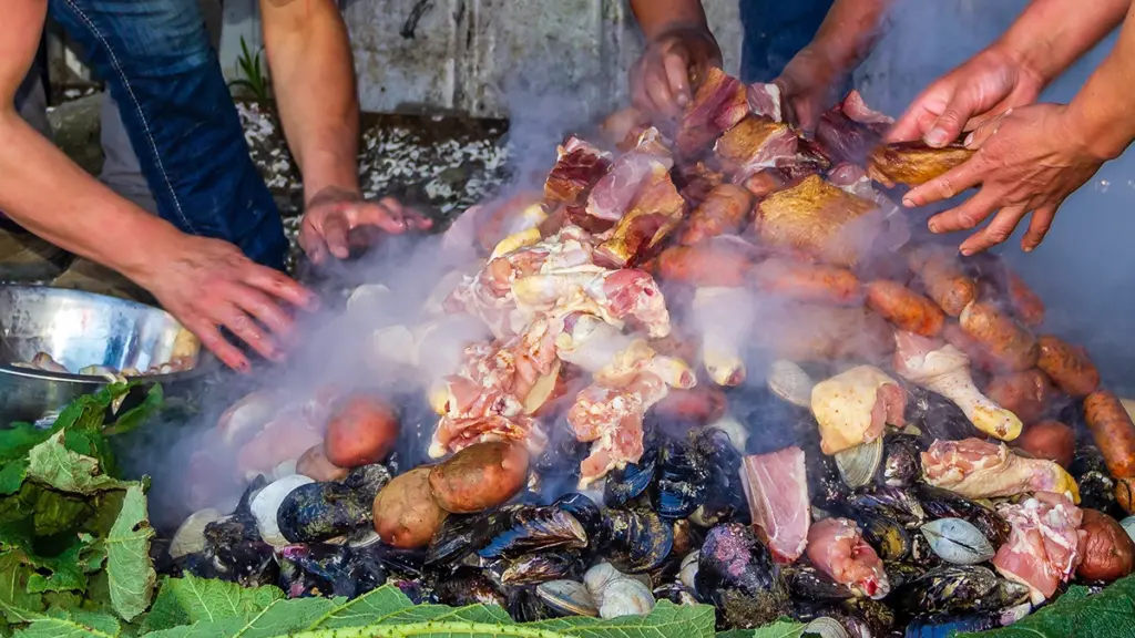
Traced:
[[515, 557], [553, 547], [587, 547], [583, 523], [555, 505], [503, 509], [494, 514], [493, 529], [493, 537], [477, 549], [482, 559]]

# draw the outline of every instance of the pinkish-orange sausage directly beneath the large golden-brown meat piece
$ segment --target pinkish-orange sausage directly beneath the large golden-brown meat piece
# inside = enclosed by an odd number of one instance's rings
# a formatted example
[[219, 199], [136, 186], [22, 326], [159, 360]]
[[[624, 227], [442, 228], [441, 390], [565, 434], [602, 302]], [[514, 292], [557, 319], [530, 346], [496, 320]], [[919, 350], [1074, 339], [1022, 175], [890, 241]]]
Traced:
[[753, 282], [762, 291], [798, 301], [838, 305], [863, 302], [859, 279], [846, 268], [771, 258], [753, 269]]

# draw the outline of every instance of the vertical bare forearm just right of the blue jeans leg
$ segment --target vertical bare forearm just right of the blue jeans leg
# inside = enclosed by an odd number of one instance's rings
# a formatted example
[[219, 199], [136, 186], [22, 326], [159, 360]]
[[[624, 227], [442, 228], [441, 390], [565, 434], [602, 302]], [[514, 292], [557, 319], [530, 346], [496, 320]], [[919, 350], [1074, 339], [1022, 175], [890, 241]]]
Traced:
[[359, 99], [346, 25], [335, 2], [262, 2], [264, 47], [284, 134], [304, 196], [359, 191]]

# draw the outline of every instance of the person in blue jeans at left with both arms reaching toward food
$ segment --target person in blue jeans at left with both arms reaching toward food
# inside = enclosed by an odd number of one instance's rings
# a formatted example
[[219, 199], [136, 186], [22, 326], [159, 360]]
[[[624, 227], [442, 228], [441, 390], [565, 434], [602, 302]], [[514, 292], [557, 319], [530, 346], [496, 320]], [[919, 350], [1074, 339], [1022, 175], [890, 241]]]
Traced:
[[[352, 229], [428, 220], [362, 201], [359, 103], [334, 0], [262, 0], [284, 132], [304, 179], [300, 243], [312, 261], [348, 255]], [[16, 111], [48, 11], [119, 104], [159, 216], [86, 175]], [[0, 210], [27, 230], [123, 274], [228, 366], [250, 369], [221, 328], [272, 360], [287, 307], [316, 296], [280, 269], [287, 242], [257, 173], [196, 0], [5, 0], [0, 7]]]

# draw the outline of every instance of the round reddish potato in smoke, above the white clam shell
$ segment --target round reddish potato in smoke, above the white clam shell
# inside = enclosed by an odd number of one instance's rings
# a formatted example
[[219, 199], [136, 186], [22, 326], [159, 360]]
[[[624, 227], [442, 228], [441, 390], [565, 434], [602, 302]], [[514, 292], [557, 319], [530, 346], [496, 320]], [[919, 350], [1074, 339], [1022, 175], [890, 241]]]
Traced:
[[390, 453], [398, 438], [398, 418], [386, 402], [354, 394], [337, 408], [323, 440], [323, 454], [331, 464], [358, 468]]

